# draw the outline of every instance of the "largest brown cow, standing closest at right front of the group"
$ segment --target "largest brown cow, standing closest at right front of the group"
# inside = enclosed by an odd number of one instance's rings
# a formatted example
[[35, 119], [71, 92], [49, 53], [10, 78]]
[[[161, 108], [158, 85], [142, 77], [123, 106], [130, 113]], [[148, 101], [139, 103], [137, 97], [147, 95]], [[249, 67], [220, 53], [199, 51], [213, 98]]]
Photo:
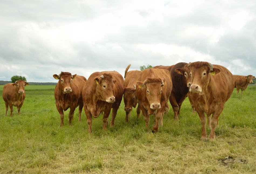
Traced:
[[208, 124], [211, 126], [210, 140], [213, 140], [218, 118], [234, 90], [234, 77], [227, 68], [209, 62], [193, 62], [188, 67], [191, 69], [189, 91], [202, 125], [201, 140], [207, 141], [205, 113], [208, 118], [212, 114]]

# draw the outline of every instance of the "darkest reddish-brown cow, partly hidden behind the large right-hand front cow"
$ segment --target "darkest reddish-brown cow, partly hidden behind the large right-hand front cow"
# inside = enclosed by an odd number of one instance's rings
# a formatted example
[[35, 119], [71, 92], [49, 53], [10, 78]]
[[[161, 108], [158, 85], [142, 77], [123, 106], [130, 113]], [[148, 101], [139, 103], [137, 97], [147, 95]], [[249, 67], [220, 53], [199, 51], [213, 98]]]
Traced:
[[187, 93], [190, 87], [190, 69], [187, 67], [187, 63], [180, 62], [171, 66], [155, 66], [154, 68], [167, 69], [170, 71], [172, 77], [172, 92], [169, 101], [172, 105], [174, 112], [174, 119], [179, 120], [180, 107], [182, 102], [187, 97]]

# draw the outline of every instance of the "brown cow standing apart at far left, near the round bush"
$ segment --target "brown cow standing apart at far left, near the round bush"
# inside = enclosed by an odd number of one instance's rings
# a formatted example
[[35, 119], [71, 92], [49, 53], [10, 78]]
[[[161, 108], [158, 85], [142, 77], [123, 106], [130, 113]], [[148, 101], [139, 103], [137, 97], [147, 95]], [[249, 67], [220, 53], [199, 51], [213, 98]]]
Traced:
[[8, 83], [4, 85], [3, 99], [5, 102], [5, 116], [7, 116], [8, 106], [10, 107], [11, 116], [13, 112], [12, 106], [16, 106], [18, 114], [21, 111], [24, 99], [26, 97], [25, 86], [28, 86], [28, 82], [24, 80], [18, 80], [15, 83]]

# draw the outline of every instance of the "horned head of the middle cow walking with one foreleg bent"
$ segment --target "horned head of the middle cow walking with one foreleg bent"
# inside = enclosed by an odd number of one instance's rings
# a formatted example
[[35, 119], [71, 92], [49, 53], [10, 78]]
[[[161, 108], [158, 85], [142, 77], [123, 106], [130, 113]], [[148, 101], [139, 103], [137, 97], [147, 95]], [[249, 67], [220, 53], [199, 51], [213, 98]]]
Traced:
[[151, 109], [161, 108], [161, 93], [162, 86], [164, 85], [165, 78], [148, 78], [144, 82], [137, 81], [139, 88], [145, 88], [146, 98], [148, 99]]

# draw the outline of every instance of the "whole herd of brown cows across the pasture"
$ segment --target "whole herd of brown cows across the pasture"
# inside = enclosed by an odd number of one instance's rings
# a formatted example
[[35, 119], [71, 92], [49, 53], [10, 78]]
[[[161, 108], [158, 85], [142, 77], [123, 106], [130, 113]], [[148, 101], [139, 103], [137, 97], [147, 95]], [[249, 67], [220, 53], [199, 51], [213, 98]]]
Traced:
[[[206, 141], [206, 117], [211, 127], [210, 139], [215, 138], [215, 127], [218, 125], [218, 118], [224, 108], [225, 102], [230, 98], [234, 88], [241, 93], [247, 88], [255, 76], [232, 75], [231, 72], [221, 66], [212, 65], [209, 62], [180, 62], [172, 66], [156, 66], [144, 69], [143, 71], [125, 69], [125, 76], [122, 77], [116, 71], [94, 72], [86, 79], [84, 76], [72, 75], [69, 72], [61, 72], [53, 77], [58, 79], [54, 90], [56, 107], [60, 114], [60, 126], [63, 126], [64, 113], [70, 108], [69, 124], [74, 117], [74, 110], [77, 106], [79, 121], [81, 112], [84, 111], [87, 117], [88, 133], [91, 133], [92, 116], [98, 117], [103, 114], [103, 130], [106, 130], [108, 116], [112, 109], [112, 120], [110, 126], [114, 125], [117, 110], [124, 96], [125, 121], [131, 115], [132, 107], [136, 108], [137, 118], [142, 111], [146, 128], [149, 129], [149, 115], [154, 115], [155, 124], [151, 131], [158, 131], [163, 124], [163, 115], [168, 112], [169, 105], [172, 105], [174, 119], [179, 120], [178, 115], [182, 102], [188, 96], [193, 111], [197, 112], [202, 124], [201, 140]], [[11, 116], [13, 106], [18, 108], [25, 99], [25, 86], [29, 83], [23, 80], [15, 83], [8, 83], [3, 89], [5, 101], [5, 116], [10, 107]]]

